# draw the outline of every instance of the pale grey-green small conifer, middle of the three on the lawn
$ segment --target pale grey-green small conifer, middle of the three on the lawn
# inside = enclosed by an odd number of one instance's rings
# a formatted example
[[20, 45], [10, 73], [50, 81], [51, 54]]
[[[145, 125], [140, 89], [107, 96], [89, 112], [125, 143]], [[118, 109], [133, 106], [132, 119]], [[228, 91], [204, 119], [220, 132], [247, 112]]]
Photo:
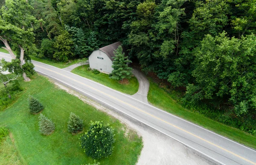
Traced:
[[43, 114], [40, 114], [39, 118], [39, 131], [44, 135], [49, 135], [55, 130], [55, 125], [52, 120], [48, 119]]

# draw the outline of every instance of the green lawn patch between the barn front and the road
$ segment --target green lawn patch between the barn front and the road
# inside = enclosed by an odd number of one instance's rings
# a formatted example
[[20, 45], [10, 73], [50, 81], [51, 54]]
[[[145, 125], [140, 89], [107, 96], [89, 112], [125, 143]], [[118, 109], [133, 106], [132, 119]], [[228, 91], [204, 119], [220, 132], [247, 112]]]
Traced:
[[91, 71], [87, 71], [88, 67], [89, 67], [89, 65], [80, 66], [80, 67], [73, 69], [71, 72], [75, 73], [77, 75], [80, 75], [82, 77], [91, 79], [93, 81], [99, 82], [100, 84], [103, 84], [103, 85], [110, 87], [114, 90], [118, 90], [122, 93], [127, 93], [129, 95], [133, 95], [133, 94], [137, 93], [137, 91], [139, 89], [139, 82], [137, 81], [137, 78], [135, 78], [135, 77], [132, 77], [131, 79], [129, 79], [130, 84], [120, 84], [118, 80], [113, 80], [113, 79], [109, 78], [109, 76], [107, 74], [99, 73], [96, 75]]

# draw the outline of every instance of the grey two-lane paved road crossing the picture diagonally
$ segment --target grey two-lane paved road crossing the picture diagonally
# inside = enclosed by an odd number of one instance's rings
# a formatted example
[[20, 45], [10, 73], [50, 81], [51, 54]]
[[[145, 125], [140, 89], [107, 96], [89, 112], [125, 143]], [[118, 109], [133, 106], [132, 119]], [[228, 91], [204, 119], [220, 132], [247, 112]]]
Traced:
[[[0, 53], [0, 58], [11, 60], [10, 56], [5, 53]], [[255, 150], [79, 75], [37, 61], [32, 62], [36, 71], [47, 74], [131, 118], [159, 130], [220, 164], [256, 165]]]

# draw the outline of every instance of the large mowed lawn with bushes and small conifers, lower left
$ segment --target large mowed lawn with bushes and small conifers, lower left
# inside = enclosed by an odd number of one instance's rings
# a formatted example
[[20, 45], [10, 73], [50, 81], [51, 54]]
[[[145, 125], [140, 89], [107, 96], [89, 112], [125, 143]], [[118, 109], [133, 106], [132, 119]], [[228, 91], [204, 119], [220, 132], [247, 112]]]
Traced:
[[[79, 136], [67, 131], [70, 112], [83, 119], [84, 132], [90, 127], [90, 121], [109, 123], [115, 132], [113, 154], [100, 159], [101, 165], [132, 165], [137, 162], [143, 147], [142, 139], [136, 133], [125, 134], [125, 125], [96, 108], [85, 104], [76, 96], [58, 89], [47, 78], [35, 75], [30, 82], [20, 78], [20, 84], [26, 90], [9, 108], [0, 112], [0, 126], [7, 127], [13, 134], [15, 146], [23, 164], [36, 165], [81, 165], [93, 163], [79, 145]], [[39, 133], [38, 116], [28, 112], [28, 97], [34, 96], [44, 105], [43, 114], [55, 123], [53, 134], [43, 136]], [[2, 162], [1, 162], [2, 163]], [[0, 164], [1, 164], [0, 163]]]

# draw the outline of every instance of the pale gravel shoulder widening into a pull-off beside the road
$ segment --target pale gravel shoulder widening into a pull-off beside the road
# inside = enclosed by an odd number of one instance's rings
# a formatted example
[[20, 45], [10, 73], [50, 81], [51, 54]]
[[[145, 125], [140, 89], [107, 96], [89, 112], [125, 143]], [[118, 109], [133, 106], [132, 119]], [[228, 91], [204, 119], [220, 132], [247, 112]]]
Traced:
[[84, 103], [95, 107], [97, 110], [107, 113], [125, 124], [123, 130], [125, 136], [133, 139], [136, 133], [143, 139], [143, 149], [140, 153], [137, 165], [208, 165], [207, 159], [198, 156], [198, 153], [180, 144], [174, 139], [165, 136], [157, 130], [146, 127], [140, 122], [131, 121], [115, 113], [97, 102], [77, 93], [70, 88], [53, 80], [55, 85], [68, 93], [80, 98]]

